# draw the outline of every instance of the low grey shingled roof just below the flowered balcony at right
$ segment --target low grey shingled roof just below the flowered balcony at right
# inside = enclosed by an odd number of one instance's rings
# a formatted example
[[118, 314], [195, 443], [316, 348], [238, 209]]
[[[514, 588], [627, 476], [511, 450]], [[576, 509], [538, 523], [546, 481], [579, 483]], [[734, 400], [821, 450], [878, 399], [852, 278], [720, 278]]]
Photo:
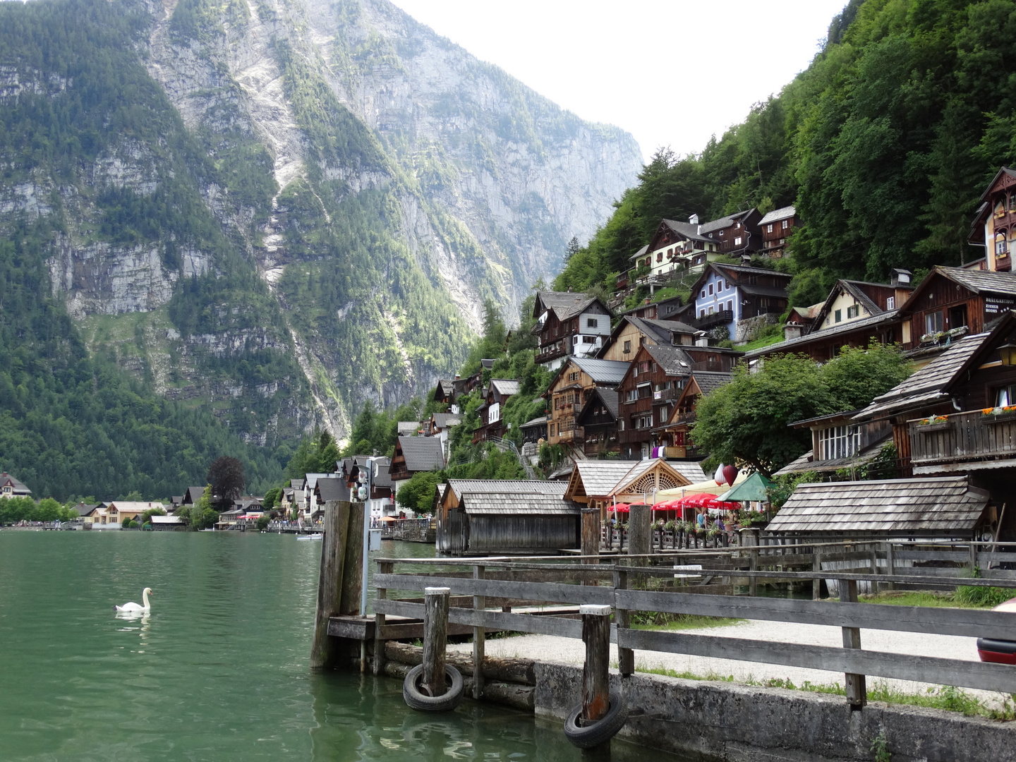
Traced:
[[767, 531], [968, 535], [991, 496], [966, 475], [798, 485]]

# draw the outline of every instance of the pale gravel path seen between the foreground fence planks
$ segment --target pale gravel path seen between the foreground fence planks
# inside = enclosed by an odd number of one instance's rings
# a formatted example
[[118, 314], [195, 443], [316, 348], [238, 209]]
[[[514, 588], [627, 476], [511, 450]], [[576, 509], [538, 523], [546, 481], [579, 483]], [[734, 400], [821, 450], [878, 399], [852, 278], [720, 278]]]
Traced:
[[[809, 645], [828, 645], [841, 647], [842, 633], [838, 627], [825, 625], [788, 624], [783, 622], [748, 621], [725, 627], [710, 627], [690, 630], [690, 633], [703, 635], [722, 635], [732, 638], [751, 638], [756, 640], [783, 641], [785, 643], [802, 643]], [[940, 656], [977, 661], [977, 646], [974, 638], [955, 635], [927, 635], [914, 632], [891, 632], [887, 630], [862, 630], [861, 644], [864, 648], [890, 653], [912, 653], [924, 656]], [[471, 645], [459, 643], [449, 649], [469, 651]], [[581, 640], [560, 638], [553, 635], [520, 635], [518, 637], [498, 638], [487, 641], [487, 653], [491, 656], [517, 656], [548, 661], [564, 661], [567, 663], [582, 663], [585, 657], [585, 646]], [[611, 658], [617, 663], [617, 646], [611, 645]], [[789, 679], [800, 686], [805, 681], [814, 685], [832, 683], [843, 684], [841, 673], [824, 670], [805, 670], [796, 666], [765, 664], [756, 661], [736, 661], [725, 658], [709, 658], [690, 656], [680, 653], [660, 653], [657, 651], [635, 651], [635, 669], [644, 671], [653, 668], [674, 670], [678, 673], [691, 673], [697, 676], [734, 676], [737, 682], [750, 680]], [[933, 688], [928, 683], [914, 683], [906, 680], [884, 680], [869, 677], [868, 686], [879, 682], [897, 688], [905, 693], [925, 693]], [[1003, 694], [992, 691], [963, 689], [968, 694], [977, 696], [992, 706], [1000, 706]]]

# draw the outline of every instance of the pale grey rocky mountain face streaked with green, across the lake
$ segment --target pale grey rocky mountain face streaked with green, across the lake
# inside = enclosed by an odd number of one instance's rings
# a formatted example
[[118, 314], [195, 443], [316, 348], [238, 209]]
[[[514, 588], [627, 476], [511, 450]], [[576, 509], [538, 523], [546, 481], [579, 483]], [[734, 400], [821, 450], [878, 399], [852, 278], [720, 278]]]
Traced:
[[[0, 235], [43, 231], [52, 291], [89, 345], [249, 441], [341, 437], [365, 398], [426, 391], [461, 361], [484, 299], [513, 317], [641, 164], [627, 133], [384, 0], [116, 8], [130, 26], [106, 44], [123, 71], [104, 76], [134, 78], [104, 84], [152, 124], [85, 107], [99, 144], [64, 173], [25, 161], [0, 181]], [[87, 62], [9, 58], [0, 105], [94, 86]], [[117, 129], [124, 110], [133, 129]]]

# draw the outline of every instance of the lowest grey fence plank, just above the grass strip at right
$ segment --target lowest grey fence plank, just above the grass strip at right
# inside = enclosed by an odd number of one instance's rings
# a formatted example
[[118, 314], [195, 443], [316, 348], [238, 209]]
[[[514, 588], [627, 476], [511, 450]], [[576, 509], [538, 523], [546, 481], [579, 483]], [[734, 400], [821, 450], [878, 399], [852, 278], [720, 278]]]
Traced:
[[619, 645], [645, 651], [874, 675], [1002, 693], [1016, 692], [1016, 666], [1009, 664], [652, 630], [620, 630], [619, 639]]

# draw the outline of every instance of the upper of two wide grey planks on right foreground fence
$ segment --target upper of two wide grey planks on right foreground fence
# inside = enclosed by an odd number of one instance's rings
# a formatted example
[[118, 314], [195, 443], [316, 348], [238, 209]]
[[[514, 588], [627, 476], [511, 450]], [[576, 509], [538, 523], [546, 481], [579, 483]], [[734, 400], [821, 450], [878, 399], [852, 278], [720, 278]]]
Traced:
[[919, 606], [621, 589], [615, 596], [615, 606], [618, 609], [643, 612], [860, 627], [866, 630], [928, 632], [1002, 640], [1011, 640], [1016, 632], [1016, 613], [977, 609], [932, 609]]

